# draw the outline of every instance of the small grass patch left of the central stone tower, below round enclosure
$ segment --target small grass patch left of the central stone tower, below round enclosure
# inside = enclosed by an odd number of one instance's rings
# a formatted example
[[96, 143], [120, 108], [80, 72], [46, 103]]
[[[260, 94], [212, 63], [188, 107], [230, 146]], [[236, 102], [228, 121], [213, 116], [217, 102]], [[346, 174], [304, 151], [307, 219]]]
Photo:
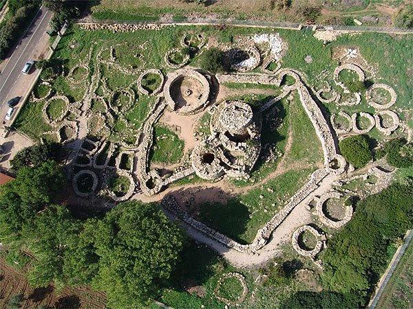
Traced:
[[150, 160], [158, 163], [179, 162], [183, 155], [184, 141], [164, 126], [155, 126], [154, 131]]

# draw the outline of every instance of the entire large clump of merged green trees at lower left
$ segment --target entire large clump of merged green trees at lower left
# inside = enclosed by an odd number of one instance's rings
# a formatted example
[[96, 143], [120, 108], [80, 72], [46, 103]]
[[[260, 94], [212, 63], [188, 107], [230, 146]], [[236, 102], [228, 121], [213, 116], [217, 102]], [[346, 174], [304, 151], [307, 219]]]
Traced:
[[34, 255], [28, 273], [34, 287], [92, 284], [105, 290], [109, 306], [147, 304], [178, 260], [180, 229], [155, 205], [137, 202], [121, 203], [103, 219], [77, 220], [52, 204], [64, 181], [59, 165], [46, 161], [21, 168], [1, 187], [3, 244]]

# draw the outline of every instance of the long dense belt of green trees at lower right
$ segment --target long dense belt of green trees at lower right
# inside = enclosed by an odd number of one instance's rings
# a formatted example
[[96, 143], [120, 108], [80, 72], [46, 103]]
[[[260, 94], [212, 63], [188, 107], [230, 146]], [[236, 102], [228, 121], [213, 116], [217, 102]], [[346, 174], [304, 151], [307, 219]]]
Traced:
[[371, 290], [387, 266], [390, 243], [412, 228], [412, 190], [396, 183], [359, 201], [352, 220], [324, 251], [325, 288], [365, 295]]

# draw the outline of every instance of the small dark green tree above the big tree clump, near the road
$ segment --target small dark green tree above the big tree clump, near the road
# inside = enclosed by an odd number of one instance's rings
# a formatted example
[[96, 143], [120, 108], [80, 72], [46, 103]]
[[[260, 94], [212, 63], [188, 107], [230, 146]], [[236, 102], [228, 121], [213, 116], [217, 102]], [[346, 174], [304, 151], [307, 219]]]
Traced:
[[46, 142], [24, 148], [17, 152], [10, 161], [12, 169], [19, 172], [23, 166], [36, 168], [47, 160], [59, 161], [61, 157], [62, 146], [58, 143]]

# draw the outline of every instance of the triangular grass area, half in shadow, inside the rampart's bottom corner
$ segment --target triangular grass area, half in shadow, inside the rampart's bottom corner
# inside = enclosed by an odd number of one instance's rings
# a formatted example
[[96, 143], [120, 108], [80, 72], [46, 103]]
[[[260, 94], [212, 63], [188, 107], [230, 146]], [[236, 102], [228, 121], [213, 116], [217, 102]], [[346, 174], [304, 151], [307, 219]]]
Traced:
[[304, 185], [311, 171], [286, 172], [266, 182], [262, 187], [231, 198], [225, 205], [196, 205], [199, 211], [198, 218], [209, 227], [214, 227], [239, 242], [250, 243], [255, 238], [257, 230], [284, 206], [301, 185]]

